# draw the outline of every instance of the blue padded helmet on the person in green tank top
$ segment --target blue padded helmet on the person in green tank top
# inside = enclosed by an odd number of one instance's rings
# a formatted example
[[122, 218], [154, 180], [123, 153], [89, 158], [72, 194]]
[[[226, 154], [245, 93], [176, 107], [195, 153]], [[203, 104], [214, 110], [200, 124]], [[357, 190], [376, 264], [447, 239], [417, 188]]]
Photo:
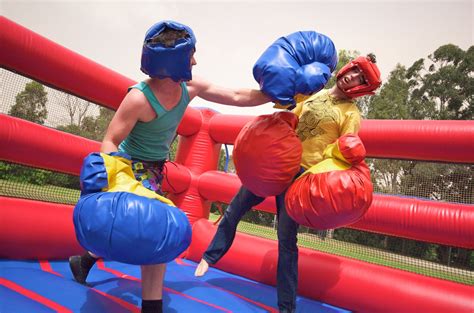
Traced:
[[[177, 39], [171, 46], [155, 43], [153, 39], [168, 28], [185, 31], [187, 36]], [[152, 78], [171, 78], [175, 82], [191, 80], [191, 56], [195, 45], [196, 37], [188, 26], [174, 21], [158, 22], [145, 35], [140, 69]]]

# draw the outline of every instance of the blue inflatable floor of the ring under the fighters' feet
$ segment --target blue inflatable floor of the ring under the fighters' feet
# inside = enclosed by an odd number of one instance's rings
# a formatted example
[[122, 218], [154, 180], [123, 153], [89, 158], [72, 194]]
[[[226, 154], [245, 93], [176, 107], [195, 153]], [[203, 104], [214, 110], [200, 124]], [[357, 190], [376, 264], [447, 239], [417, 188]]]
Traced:
[[[67, 261], [50, 261], [51, 268], [61, 276], [44, 272], [38, 262], [0, 260], [0, 277], [40, 294], [73, 312], [129, 312], [117, 302], [98, 293], [119, 298], [140, 306], [140, 267], [106, 261], [105, 270], [94, 266], [87, 278], [88, 286], [73, 281]], [[112, 269], [110, 272], [107, 269]], [[239, 313], [268, 312], [261, 305], [277, 310], [276, 289], [255, 281], [210, 268], [204, 277], [195, 277], [196, 263], [186, 260], [167, 265], [163, 291], [165, 312]], [[115, 274], [114, 274], [115, 273]], [[124, 275], [121, 275], [124, 274]], [[132, 278], [132, 279], [129, 279]], [[5, 312], [51, 312], [41, 309], [30, 299], [0, 286], [0, 308]], [[297, 297], [296, 313], [346, 313], [331, 305]], [[38, 309], [37, 309], [38, 308]], [[3, 313], [3, 310], [0, 310]]]

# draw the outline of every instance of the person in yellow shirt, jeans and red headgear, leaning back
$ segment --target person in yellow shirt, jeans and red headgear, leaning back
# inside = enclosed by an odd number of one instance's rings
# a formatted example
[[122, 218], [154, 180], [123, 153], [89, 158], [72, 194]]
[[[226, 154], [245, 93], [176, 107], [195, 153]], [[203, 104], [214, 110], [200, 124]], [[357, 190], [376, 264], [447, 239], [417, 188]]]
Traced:
[[[294, 113], [300, 118], [297, 133], [303, 145], [302, 167], [309, 169], [323, 160], [328, 144], [345, 134], [355, 134], [360, 127], [360, 113], [355, 97], [373, 94], [381, 84], [380, 71], [373, 56], [358, 57], [337, 74], [336, 85], [311, 96], [295, 98]], [[218, 230], [199, 263], [195, 275], [204, 275], [209, 264], [218, 262], [235, 238], [237, 224], [252, 207], [264, 198], [242, 186], [232, 199]], [[298, 224], [285, 207], [285, 192], [276, 196], [278, 219], [277, 293], [280, 312], [296, 311], [298, 283]]]

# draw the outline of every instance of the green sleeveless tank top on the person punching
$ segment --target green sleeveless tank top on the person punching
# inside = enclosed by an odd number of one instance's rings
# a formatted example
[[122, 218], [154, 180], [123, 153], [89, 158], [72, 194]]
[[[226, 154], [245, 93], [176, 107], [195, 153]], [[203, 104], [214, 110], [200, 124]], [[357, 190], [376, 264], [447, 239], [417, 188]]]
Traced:
[[120, 143], [118, 150], [142, 161], [165, 160], [190, 101], [186, 83], [181, 83], [181, 99], [170, 111], [160, 104], [147, 83], [138, 83], [128, 90], [132, 88], [143, 92], [158, 117], [146, 123], [138, 121], [127, 138]]

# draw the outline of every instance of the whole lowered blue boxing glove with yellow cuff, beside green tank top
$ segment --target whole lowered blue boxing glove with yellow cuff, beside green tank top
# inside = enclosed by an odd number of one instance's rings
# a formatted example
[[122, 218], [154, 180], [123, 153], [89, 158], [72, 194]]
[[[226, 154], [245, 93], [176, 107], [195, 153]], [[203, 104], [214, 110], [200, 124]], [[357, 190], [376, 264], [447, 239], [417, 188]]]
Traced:
[[84, 249], [145, 265], [169, 262], [191, 243], [184, 212], [135, 179], [128, 155], [91, 153], [80, 179], [82, 193], [73, 222]]

